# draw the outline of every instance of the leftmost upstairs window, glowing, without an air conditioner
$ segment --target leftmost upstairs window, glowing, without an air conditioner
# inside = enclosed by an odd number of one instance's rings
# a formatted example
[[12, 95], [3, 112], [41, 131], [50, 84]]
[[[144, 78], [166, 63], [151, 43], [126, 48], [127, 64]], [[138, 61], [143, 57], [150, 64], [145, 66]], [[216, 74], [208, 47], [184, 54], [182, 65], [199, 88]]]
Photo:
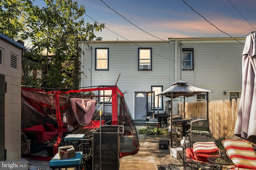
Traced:
[[109, 48], [95, 49], [95, 70], [109, 69]]

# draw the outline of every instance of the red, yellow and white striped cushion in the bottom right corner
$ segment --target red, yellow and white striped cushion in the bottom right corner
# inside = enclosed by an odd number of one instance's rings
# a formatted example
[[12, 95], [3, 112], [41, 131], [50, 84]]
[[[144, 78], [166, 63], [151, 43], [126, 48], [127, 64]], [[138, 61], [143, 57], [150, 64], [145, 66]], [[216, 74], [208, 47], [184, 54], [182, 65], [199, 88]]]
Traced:
[[256, 170], [256, 153], [249, 141], [227, 139], [222, 143], [236, 167]]

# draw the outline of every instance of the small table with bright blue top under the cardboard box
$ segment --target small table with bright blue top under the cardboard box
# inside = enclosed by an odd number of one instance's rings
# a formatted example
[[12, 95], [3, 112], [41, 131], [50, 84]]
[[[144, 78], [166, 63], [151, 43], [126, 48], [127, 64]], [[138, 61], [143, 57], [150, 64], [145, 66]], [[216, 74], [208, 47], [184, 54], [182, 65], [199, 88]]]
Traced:
[[79, 168], [82, 164], [83, 152], [76, 152], [75, 158], [60, 159], [58, 153], [50, 160], [50, 168]]

